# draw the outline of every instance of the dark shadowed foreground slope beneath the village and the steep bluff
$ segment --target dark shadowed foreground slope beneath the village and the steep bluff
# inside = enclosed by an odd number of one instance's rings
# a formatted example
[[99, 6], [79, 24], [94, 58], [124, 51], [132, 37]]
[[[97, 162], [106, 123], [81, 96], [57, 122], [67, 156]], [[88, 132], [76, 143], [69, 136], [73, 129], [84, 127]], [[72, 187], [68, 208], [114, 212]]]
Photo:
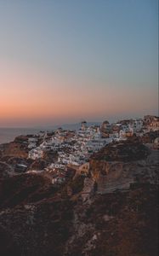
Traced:
[[85, 203], [37, 174], [3, 179], [0, 187], [1, 255], [158, 255], [156, 184], [133, 183]]

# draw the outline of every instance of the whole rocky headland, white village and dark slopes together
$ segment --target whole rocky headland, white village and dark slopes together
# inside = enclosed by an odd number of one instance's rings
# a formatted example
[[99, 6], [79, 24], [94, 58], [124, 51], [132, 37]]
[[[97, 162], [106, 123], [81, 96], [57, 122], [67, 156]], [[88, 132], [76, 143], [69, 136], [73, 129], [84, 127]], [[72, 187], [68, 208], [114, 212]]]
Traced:
[[159, 118], [0, 145], [0, 254], [158, 255]]

